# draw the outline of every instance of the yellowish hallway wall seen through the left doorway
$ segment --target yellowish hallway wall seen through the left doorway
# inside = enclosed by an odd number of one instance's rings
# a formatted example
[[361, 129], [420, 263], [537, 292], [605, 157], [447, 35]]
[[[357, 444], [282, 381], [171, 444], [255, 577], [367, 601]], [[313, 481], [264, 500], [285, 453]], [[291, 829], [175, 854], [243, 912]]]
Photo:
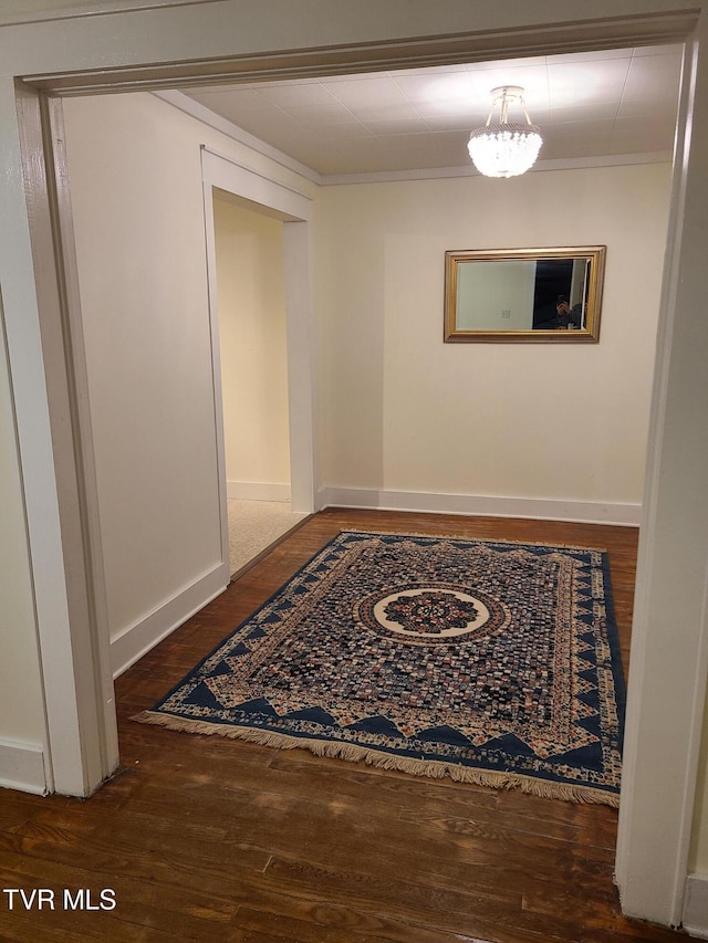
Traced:
[[217, 191], [214, 227], [229, 494], [277, 497], [290, 490], [283, 223]]

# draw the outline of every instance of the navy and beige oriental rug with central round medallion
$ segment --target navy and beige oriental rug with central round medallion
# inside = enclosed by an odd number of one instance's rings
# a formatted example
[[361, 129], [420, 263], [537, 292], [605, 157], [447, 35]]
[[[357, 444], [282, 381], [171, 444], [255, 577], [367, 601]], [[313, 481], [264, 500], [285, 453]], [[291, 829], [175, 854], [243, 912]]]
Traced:
[[134, 720], [618, 805], [604, 552], [345, 531]]

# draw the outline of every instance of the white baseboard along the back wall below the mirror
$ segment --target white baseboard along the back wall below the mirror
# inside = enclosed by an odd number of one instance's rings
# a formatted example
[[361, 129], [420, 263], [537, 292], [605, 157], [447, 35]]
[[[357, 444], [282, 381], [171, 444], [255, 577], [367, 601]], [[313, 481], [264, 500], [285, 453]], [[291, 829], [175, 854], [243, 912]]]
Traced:
[[473, 494], [434, 494], [413, 491], [376, 491], [364, 488], [324, 488], [320, 507], [368, 507], [429, 514], [467, 514], [490, 517], [532, 517], [582, 524], [620, 524], [637, 527], [641, 504], [594, 501], [556, 501], [539, 497], [497, 497]]

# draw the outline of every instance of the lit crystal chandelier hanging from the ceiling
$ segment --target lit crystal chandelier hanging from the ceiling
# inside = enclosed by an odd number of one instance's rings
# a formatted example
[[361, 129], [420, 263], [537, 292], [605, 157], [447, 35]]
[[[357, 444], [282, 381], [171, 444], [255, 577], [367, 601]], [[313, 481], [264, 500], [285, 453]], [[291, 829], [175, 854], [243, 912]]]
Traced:
[[[518, 177], [533, 166], [539, 155], [541, 133], [523, 103], [523, 88], [519, 85], [502, 85], [491, 90], [492, 104], [487, 124], [476, 128], [469, 136], [467, 149], [480, 174], [486, 177]], [[508, 122], [510, 102], [518, 102], [523, 111], [525, 124]], [[499, 105], [499, 122], [492, 124], [494, 106]]]

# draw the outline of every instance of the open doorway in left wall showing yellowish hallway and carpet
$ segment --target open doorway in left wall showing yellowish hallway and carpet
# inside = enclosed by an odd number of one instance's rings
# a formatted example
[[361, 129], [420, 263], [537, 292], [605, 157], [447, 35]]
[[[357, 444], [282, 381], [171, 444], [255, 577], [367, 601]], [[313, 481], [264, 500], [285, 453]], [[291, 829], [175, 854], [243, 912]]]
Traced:
[[287, 223], [218, 189], [212, 211], [229, 564], [236, 576], [308, 512], [293, 511], [291, 501]]

